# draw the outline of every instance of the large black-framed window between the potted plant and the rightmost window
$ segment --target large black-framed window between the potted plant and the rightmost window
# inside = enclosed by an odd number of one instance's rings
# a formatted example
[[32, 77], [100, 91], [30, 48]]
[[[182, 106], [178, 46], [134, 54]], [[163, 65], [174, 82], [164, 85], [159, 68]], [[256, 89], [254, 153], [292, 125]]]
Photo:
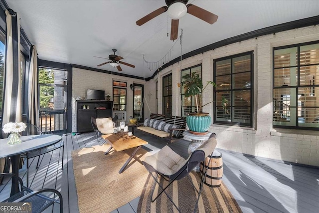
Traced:
[[253, 126], [253, 51], [214, 60], [214, 124]]

